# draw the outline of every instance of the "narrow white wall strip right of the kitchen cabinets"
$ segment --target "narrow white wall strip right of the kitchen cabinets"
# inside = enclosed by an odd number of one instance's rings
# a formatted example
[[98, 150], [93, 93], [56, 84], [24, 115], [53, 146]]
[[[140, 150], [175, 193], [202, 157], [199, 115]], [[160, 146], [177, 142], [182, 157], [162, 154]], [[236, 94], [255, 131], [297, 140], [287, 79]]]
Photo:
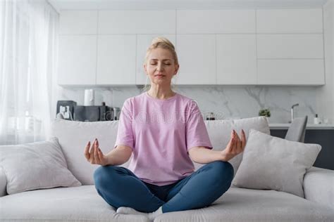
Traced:
[[323, 6], [323, 37], [325, 44], [325, 75], [326, 84], [318, 88], [316, 107], [321, 118], [334, 122], [334, 0], [328, 0]]

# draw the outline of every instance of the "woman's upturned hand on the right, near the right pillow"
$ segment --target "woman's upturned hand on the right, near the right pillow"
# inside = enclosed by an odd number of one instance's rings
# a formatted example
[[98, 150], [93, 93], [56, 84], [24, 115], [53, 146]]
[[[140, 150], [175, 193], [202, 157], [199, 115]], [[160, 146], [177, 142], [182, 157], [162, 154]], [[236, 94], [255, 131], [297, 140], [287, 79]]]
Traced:
[[237, 135], [237, 132], [233, 129], [231, 132], [231, 138], [230, 142], [228, 142], [228, 145], [226, 146], [225, 150], [221, 151], [221, 155], [223, 155], [224, 160], [227, 162], [228, 160], [232, 159], [236, 155], [238, 155], [240, 152], [243, 152], [245, 150], [246, 145], [246, 135], [245, 131], [241, 130], [241, 139]]

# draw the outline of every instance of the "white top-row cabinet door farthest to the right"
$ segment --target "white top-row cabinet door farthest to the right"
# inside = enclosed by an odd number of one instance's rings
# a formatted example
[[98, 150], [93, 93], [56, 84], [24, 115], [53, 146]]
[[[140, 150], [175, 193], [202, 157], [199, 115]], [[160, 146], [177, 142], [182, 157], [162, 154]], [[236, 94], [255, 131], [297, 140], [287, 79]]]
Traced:
[[322, 33], [322, 9], [258, 9], [257, 33]]

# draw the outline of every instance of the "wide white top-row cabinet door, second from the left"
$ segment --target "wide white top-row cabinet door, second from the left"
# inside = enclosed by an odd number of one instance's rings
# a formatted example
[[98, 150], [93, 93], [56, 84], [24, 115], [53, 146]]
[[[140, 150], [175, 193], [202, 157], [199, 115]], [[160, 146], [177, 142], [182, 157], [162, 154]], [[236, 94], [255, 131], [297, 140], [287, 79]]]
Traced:
[[99, 34], [175, 34], [175, 10], [99, 11]]

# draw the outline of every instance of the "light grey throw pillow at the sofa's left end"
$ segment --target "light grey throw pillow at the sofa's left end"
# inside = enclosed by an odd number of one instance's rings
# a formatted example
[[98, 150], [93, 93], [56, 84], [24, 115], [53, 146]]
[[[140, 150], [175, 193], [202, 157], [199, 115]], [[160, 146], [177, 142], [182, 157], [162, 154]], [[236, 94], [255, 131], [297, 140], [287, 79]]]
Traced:
[[68, 170], [58, 138], [20, 145], [0, 145], [0, 166], [9, 195], [27, 190], [81, 185]]

